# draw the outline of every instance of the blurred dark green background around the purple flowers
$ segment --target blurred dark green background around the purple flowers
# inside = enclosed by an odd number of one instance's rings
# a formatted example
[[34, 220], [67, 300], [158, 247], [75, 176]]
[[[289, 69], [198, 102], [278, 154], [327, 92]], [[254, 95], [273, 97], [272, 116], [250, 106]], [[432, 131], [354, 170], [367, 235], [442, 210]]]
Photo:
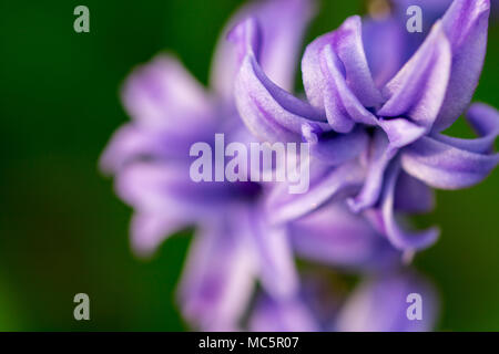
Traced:
[[[207, 81], [214, 42], [234, 0], [2, 1], [0, 91], [0, 330], [180, 331], [179, 279], [189, 236], [149, 261], [133, 257], [131, 209], [100, 175], [98, 158], [128, 117], [118, 90], [161, 50]], [[90, 9], [90, 33], [73, 9]], [[361, 1], [323, 1], [307, 41], [364, 11]], [[499, 106], [499, 23], [489, 32], [476, 100]], [[389, 45], [389, 43], [387, 43]], [[459, 122], [452, 134], [467, 136]], [[499, 173], [461, 191], [438, 192], [422, 222], [436, 247], [417, 268], [441, 295], [438, 330], [499, 330]], [[73, 296], [91, 298], [91, 321], [73, 320]]]

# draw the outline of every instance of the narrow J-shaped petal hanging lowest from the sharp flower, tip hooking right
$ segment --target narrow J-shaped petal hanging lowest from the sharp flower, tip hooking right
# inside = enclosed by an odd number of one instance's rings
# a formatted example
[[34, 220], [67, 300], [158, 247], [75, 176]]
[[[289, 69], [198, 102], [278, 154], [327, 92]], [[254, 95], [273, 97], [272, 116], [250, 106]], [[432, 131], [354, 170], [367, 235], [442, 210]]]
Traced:
[[437, 228], [430, 228], [425, 231], [410, 232], [403, 230], [395, 217], [395, 187], [400, 173], [398, 162], [394, 162], [387, 170], [385, 189], [380, 200], [380, 221], [383, 231], [388, 240], [399, 250], [414, 251], [425, 249], [438, 238]]

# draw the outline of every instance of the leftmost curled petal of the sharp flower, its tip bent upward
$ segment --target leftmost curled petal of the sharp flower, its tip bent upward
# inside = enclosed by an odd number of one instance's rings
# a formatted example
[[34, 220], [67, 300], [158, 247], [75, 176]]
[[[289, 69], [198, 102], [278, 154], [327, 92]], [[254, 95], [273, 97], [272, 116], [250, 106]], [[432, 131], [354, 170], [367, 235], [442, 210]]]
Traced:
[[302, 126], [309, 122], [324, 131], [329, 129], [310, 105], [282, 90], [265, 75], [253, 48], [256, 34], [252, 32], [257, 28], [256, 20], [248, 19], [232, 32], [236, 45], [246, 51], [235, 81], [235, 100], [248, 129], [267, 142], [301, 142]]

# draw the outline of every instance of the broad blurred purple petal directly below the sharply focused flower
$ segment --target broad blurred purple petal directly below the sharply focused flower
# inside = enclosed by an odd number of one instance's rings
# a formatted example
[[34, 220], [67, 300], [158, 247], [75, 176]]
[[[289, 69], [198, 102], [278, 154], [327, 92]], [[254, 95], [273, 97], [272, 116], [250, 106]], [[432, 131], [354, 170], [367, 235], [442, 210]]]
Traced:
[[288, 226], [299, 257], [346, 269], [374, 270], [396, 264], [396, 252], [381, 235], [343, 204], [329, 204]]

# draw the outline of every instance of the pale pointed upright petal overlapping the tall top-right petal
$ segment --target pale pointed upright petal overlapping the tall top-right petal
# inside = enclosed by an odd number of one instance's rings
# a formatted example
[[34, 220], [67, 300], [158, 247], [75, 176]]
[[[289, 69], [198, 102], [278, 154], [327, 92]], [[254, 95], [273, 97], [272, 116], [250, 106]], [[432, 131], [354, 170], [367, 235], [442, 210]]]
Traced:
[[385, 117], [408, 116], [428, 129], [440, 111], [451, 66], [450, 44], [441, 23], [385, 86], [388, 101], [377, 112]]

